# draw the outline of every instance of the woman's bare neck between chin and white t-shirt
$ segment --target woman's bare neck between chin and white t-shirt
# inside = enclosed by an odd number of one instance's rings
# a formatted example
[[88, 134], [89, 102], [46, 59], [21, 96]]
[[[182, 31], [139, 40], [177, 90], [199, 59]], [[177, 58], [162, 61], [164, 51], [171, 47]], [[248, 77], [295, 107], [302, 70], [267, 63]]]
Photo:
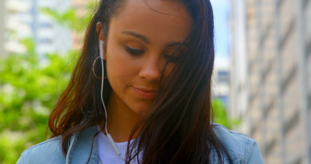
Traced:
[[[114, 142], [128, 141], [132, 129], [142, 118], [142, 115], [132, 111], [113, 90], [111, 91], [106, 109], [108, 115], [107, 131], [114, 139]], [[104, 120], [101, 121], [100, 125], [101, 127], [105, 126]], [[105, 130], [103, 132], [107, 135]], [[138, 132], [135, 132], [132, 139], [137, 137]]]

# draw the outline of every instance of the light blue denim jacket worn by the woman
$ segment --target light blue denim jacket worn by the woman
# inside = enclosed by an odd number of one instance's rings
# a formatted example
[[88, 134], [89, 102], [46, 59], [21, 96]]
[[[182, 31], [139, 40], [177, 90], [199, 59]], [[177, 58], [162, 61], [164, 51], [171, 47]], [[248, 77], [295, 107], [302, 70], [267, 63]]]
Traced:
[[[213, 123], [213, 125], [213, 130], [228, 150], [228, 153], [233, 160], [233, 164], [264, 163], [258, 145], [254, 139], [249, 138], [245, 134], [228, 130], [223, 125], [217, 123]], [[100, 164], [96, 138], [94, 139], [93, 147], [91, 147], [93, 136], [96, 132], [96, 126], [91, 126], [86, 130], [74, 134], [71, 137], [66, 156], [62, 153], [61, 136], [38, 143], [21, 153], [21, 157], [18, 159], [17, 164], [86, 163], [89, 158], [91, 148], [92, 154], [89, 164]], [[223, 158], [225, 159], [225, 164], [230, 163], [225, 154], [223, 155]], [[215, 149], [210, 153], [210, 160], [210, 163], [218, 163], [218, 157]]]

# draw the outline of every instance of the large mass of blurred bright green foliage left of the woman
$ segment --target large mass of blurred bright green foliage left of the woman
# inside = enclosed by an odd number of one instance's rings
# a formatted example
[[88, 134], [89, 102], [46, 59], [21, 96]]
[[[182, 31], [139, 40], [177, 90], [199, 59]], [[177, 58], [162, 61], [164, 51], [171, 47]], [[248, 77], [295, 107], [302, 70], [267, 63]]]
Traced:
[[33, 40], [21, 42], [27, 47], [25, 54], [0, 59], [0, 163], [4, 164], [15, 163], [23, 150], [44, 141], [49, 112], [67, 84], [77, 54], [46, 54], [39, 60]]

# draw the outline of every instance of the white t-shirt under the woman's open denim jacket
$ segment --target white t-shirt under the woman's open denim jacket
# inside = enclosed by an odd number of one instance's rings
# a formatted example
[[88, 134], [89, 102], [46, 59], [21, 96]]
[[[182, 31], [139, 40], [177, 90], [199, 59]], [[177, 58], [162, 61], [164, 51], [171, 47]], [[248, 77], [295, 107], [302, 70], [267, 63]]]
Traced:
[[[97, 130], [100, 130], [99, 125], [97, 125]], [[135, 139], [132, 139], [130, 143], [132, 143], [134, 140]], [[120, 156], [118, 156], [118, 154], [115, 152], [109, 139], [103, 132], [100, 132], [100, 134], [98, 134], [97, 143], [98, 143], [98, 156], [102, 164], [110, 164], [110, 163], [124, 164], [125, 163], [125, 161]], [[128, 146], [128, 142], [121, 142], [121, 143], [115, 142], [115, 144], [117, 145], [121, 153], [121, 156], [125, 158], [125, 153], [126, 153], [126, 148]], [[142, 163], [141, 159], [139, 159], [139, 162]], [[132, 160], [131, 163], [135, 164], [137, 162], [136, 160]]]

